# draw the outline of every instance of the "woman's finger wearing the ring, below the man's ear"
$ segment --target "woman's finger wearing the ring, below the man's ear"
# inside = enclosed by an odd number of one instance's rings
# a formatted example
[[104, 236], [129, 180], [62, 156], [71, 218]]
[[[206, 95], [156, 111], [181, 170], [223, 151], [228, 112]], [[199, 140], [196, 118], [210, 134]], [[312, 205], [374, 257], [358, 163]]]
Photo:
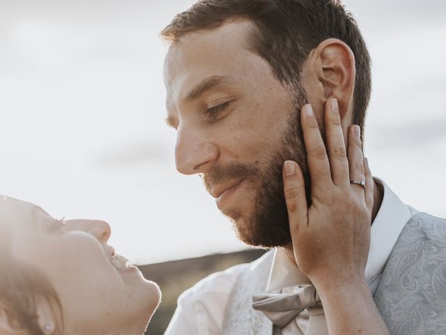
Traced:
[[[355, 183], [365, 183], [361, 131], [360, 127], [355, 124], [348, 129], [348, 167], [350, 170], [351, 181], [355, 181]], [[365, 185], [351, 184], [355, 194], [361, 198], [364, 197], [364, 186]]]

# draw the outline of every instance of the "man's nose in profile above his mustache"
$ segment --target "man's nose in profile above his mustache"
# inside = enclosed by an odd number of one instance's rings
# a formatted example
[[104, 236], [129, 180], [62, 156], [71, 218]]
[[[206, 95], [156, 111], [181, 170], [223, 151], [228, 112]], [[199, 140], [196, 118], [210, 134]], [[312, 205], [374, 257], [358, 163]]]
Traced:
[[191, 128], [180, 127], [176, 135], [176, 170], [183, 174], [208, 172], [218, 158], [218, 149], [206, 134]]

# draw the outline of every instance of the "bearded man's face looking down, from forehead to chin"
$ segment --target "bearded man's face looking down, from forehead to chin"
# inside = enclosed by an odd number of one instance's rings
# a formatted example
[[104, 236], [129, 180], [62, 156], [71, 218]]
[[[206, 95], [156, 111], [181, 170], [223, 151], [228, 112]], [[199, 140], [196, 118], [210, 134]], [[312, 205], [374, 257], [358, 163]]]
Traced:
[[251, 29], [247, 21], [229, 22], [171, 46], [167, 121], [177, 130], [177, 170], [201, 175], [238, 237], [284, 246], [291, 237], [282, 164], [293, 159], [306, 170], [298, 121], [306, 99], [303, 90], [292, 97], [268, 62], [249, 50]]

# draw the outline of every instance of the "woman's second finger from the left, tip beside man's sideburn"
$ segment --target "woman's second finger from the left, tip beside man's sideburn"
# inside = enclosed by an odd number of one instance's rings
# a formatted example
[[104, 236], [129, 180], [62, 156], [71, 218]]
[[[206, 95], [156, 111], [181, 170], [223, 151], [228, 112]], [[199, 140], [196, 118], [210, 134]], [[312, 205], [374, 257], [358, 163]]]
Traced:
[[309, 175], [312, 180], [312, 195], [314, 195], [314, 191], [317, 192], [318, 189], [323, 191], [326, 189], [325, 186], [333, 184], [330, 163], [311, 105], [302, 107], [300, 123], [307, 151]]

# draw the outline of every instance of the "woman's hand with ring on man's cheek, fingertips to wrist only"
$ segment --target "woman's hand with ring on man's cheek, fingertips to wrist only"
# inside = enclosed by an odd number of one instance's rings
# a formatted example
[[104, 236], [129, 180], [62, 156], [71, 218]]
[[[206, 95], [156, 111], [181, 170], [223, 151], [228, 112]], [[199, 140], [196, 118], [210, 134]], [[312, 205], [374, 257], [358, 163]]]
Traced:
[[[348, 132], [347, 155], [336, 100], [325, 105], [328, 149], [310, 105], [302, 108], [301, 124], [312, 183], [309, 207], [300, 167], [293, 161], [284, 164], [295, 260], [315, 284], [365, 281], [374, 191], [360, 128], [351, 126]], [[352, 180], [365, 181], [365, 187]]]

